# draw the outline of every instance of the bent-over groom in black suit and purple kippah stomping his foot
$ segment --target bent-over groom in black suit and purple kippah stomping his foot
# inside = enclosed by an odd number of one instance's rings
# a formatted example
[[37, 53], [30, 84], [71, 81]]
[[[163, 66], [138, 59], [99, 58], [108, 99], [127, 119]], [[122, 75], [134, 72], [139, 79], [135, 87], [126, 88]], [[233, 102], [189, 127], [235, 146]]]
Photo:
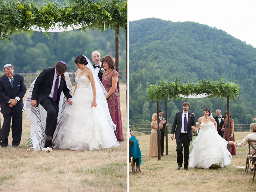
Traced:
[[62, 91], [67, 97], [69, 105], [72, 104], [72, 96], [69, 94], [65, 76], [63, 75], [65, 72], [67, 72], [66, 63], [64, 61], [59, 61], [55, 67], [44, 69], [38, 75], [34, 84], [31, 105], [36, 107], [38, 104], [40, 104], [47, 111], [45, 128], [46, 142], [44, 144], [45, 148], [52, 148], [51, 140], [57, 125], [59, 98]]

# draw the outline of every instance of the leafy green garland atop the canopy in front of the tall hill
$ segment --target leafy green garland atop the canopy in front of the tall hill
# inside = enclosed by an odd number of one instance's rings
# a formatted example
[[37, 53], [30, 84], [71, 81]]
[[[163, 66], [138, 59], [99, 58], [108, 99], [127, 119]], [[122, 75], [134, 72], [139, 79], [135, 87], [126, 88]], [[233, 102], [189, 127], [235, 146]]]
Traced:
[[179, 95], [188, 96], [190, 94], [206, 94], [209, 97], [226, 98], [230, 97], [230, 100], [238, 100], [238, 94], [240, 86], [233, 82], [225, 82], [220, 78], [215, 82], [211, 82], [208, 77], [207, 80], [199, 79], [197, 83], [181, 82], [181, 78], [177, 78], [175, 81], [166, 82], [161, 81], [160, 85], [150, 85], [147, 88], [147, 97], [149, 101], [162, 101], [180, 99]]

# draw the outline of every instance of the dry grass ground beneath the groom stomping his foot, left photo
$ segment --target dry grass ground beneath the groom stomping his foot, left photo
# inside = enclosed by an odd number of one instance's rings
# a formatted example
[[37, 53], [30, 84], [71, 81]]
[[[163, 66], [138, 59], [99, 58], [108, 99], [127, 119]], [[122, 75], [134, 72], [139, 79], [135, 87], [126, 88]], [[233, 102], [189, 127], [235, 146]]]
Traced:
[[125, 90], [126, 84], [120, 84], [125, 141], [116, 148], [26, 152], [28, 148], [25, 142], [30, 135], [30, 123], [24, 112], [20, 147], [12, 148], [11, 132], [8, 147], [0, 147], [0, 191], [127, 191]]

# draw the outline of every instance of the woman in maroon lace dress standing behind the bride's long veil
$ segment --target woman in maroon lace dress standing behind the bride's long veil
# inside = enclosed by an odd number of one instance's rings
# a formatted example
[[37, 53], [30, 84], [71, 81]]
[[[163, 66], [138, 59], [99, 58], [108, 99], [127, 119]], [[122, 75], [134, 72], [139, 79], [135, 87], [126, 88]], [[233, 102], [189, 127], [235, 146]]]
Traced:
[[102, 84], [105, 87], [108, 94], [106, 99], [108, 102], [108, 109], [112, 121], [116, 124], [115, 136], [117, 141], [124, 141], [123, 138], [123, 127], [121, 118], [121, 105], [119, 94], [117, 90], [117, 81], [120, 75], [114, 70], [115, 63], [112, 57], [105, 56], [101, 60], [103, 67], [107, 70], [102, 75]]

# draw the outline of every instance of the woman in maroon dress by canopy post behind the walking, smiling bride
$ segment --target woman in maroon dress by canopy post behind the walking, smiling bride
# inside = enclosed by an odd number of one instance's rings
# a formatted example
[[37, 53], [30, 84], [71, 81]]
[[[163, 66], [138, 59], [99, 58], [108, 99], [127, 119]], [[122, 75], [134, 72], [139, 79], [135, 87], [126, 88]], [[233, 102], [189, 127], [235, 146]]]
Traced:
[[[229, 122], [230, 122], [230, 141], [234, 141], [235, 142], [235, 135], [234, 135], [234, 120], [231, 119], [231, 113], [229, 112], [229, 115], [230, 115], [230, 119], [229, 119]], [[225, 118], [225, 121], [224, 121], [224, 125], [222, 126], [222, 131], [224, 129], [224, 133], [223, 133], [223, 138], [226, 139], [226, 141], [229, 141], [228, 140], [228, 111], [225, 112], [224, 116], [226, 117]], [[231, 145], [231, 154], [232, 155], [235, 155], [236, 154], [236, 146], [235, 145]]]

